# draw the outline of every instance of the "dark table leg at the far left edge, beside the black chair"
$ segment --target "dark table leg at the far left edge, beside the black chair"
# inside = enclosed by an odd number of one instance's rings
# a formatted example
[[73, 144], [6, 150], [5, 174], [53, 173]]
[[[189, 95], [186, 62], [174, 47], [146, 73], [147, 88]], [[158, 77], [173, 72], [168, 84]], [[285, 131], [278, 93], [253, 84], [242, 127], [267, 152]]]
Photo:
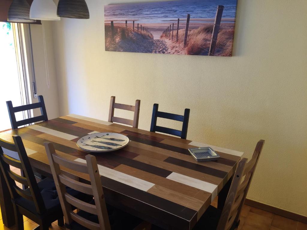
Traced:
[[14, 208], [11, 201], [11, 194], [6, 185], [6, 181], [0, 170], [0, 207], [2, 214], [2, 221], [7, 228], [12, 227], [15, 224]]

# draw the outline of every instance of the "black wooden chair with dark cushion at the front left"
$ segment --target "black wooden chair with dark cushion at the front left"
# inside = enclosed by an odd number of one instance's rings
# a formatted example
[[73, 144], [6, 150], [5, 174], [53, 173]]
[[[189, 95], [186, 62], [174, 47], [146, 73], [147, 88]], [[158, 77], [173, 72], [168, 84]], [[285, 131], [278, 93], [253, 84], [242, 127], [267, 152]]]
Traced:
[[[22, 215], [39, 224], [39, 229], [42, 230], [49, 229], [55, 220], [58, 220], [59, 225], [63, 225], [63, 213], [60, 201], [56, 199], [54, 182], [49, 178], [36, 182], [21, 137], [14, 135], [13, 139], [14, 144], [0, 139], [0, 167], [2, 178], [6, 181], [12, 199], [16, 229], [24, 229]], [[18, 152], [20, 160], [4, 154], [3, 149]], [[10, 166], [23, 170], [25, 176], [14, 173], [10, 170]], [[29, 188], [23, 190], [16, 185], [16, 182]]]

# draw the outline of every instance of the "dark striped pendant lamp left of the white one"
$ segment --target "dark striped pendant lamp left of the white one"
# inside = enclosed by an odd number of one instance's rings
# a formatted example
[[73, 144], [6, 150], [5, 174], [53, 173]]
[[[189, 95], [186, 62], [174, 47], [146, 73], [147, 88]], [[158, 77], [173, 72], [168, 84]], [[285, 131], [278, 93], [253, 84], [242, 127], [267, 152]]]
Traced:
[[9, 22], [36, 22], [30, 19], [30, 6], [26, 0], [13, 0], [10, 5], [7, 21]]

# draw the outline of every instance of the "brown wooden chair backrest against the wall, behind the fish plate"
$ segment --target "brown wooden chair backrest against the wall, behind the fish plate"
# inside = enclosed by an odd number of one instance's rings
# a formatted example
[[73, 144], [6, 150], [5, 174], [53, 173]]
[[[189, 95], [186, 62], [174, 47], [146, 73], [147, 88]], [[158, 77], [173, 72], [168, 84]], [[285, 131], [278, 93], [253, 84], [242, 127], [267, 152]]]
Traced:
[[[140, 115], [140, 100], [135, 101], [135, 105], [124, 105], [115, 103], [115, 97], [111, 97], [110, 101], [110, 110], [109, 110], [109, 122], [117, 122], [121, 124], [131, 125], [134, 128], [138, 128], [138, 118]], [[128, 111], [134, 112], [133, 120], [121, 118], [121, 117], [114, 117], [114, 109], [124, 109]]]

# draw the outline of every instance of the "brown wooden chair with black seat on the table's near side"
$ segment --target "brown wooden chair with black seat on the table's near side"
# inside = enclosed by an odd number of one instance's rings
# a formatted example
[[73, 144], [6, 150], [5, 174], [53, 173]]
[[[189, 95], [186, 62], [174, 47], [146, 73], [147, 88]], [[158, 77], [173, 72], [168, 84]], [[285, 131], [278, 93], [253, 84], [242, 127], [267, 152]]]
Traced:
[[[94, 156], [87, 155], [85, 157], [87, 163], [80, 163], [57, 155], [53, 144], [49, 142], [45, 142], [45, 148], [64, 212], [66, 228], [78, 230], [110, 230], [115, 228], [141, 230], [146, 227], [150, 227], [150, 225], [146, 222], [142, 222], [142, 220], [133, 217], [128, 213], [111, 209], [110, 207], [107, 208], [103, 195], [103, 188], [101, 185], [97, 161]], [[91, 185], [68, 178], [60, 171], [60, 166], [76, 172], [89, 174]], [[65, 185], [80, 192], [93, 195], [94, 200], [90, 203], [86, 203], [70, 196], [65, 190]], [[80, 211], [78, 213], [74, 213], [71, 209], [71, 205], [76, 206]], [[112, 219], [115, 220], [114, 223], [110, 223], [109, 216], [112, 216]]]

